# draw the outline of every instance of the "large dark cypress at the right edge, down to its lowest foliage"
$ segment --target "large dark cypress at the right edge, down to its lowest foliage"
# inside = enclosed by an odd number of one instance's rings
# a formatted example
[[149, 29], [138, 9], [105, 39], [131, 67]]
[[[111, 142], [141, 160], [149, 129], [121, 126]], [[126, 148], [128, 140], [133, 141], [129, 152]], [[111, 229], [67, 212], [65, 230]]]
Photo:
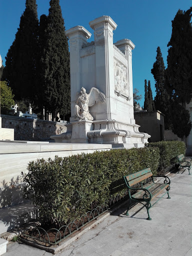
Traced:
[[[167, 86], [172, 92], [172, 130], [186, 137], [191, 129], [189, 112], [185, 104], [192, 98], [192, 7], [186, 11], [178, 10], [172, 20], [172, 34], [167, 46]], [[179, 117], [179, 118], [178, 118]], [[177, 120], [175, 120], [177, 118]], [[184, 125], [184, 126], [183, 126]]]

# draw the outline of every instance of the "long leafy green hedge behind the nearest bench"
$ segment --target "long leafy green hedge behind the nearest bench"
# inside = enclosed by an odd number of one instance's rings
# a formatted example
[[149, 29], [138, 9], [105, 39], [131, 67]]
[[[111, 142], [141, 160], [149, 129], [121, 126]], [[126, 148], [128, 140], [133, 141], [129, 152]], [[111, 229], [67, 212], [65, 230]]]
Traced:
[[[95, 205], [125, 191], [122, 176], [159, 163], [157, 147], [95, 151], [54, 159], [38, 159], [22, 173], [24, 196], [39, 208], [44, 220], [68, 223]], [[122, 185], [123, 183], [123, 185]]]

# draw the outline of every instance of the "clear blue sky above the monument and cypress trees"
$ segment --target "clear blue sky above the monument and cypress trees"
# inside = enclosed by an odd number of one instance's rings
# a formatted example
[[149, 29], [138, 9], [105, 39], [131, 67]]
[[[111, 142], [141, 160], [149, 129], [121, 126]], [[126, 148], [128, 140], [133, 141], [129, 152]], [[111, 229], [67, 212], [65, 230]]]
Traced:
[[[48, 14], [49, 0], [36, 0], [38, 17]], [[171, 36], [171, 20], [177, 10], [187, 10], [192, 0], [60, 0], [65, 29], [84, 26], [94, 40], [89, 21], [109, 15], [117, 24], [113, 31], [113, 42], [130, 39], [132, 50], [133, 88], [142, 94], [144, 102], [144, 79], [150, 80], [153, 97], [154, 79], [150, 70], [155, 61], [156, 48], [160, 46], [166, 66], [167, 43]], [[25, 9], [25, 0], [0, 0], [0, 55], [5, 65], [5, 56], [12, 44], [20, 16]]]

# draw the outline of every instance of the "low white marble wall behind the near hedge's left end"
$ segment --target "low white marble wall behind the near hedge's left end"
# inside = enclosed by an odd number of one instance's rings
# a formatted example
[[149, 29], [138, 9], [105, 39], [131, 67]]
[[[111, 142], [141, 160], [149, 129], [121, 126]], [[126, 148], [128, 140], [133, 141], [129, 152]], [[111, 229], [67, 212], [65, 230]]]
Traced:
[[23, 202], [21, 171], [37, 158], [48, 159], [72, 154], [110, 150], [111, 144], [77, 144], [49, 142], [0, 142], [0, 208]]

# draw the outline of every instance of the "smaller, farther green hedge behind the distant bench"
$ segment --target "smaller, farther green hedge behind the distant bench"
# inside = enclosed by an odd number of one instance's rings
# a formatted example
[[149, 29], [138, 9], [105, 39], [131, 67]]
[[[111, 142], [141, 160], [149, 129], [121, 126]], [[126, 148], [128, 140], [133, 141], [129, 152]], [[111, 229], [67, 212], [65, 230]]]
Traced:
[[173, 162], [176, 155], [184, 154], [186, 151], [185, 143], [182, 141], [159, 141], [146, 144], [148, 148], [158, 147], [160, 160], [158, 172], [166, 170]]

